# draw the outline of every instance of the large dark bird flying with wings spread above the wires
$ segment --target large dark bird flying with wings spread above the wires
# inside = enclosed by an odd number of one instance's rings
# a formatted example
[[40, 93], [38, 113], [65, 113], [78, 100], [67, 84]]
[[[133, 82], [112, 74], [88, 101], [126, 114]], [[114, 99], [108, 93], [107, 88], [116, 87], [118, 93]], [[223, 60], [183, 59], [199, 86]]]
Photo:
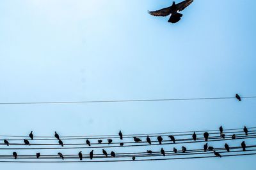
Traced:
[[182, 14], [179, 13], [179, 11], [184, 10], [192, 2], [193, 2], [193, 0], [186, 0], [186, 1], [182, 1], [181, 3], [175, 4], [175, 2], [173, 1], [172, 6], [169, 6], [167, 8], [163, 8], [163, 9], [157, 10], [157, 11], [148, 11], [148, 13], [150, 13], [150, 15], [153, 15], [156, 17], [160, 17], [160, 16], [166, 17], [168, 15], [171, 15], [168, 22], [176, 23], [182, 17]]

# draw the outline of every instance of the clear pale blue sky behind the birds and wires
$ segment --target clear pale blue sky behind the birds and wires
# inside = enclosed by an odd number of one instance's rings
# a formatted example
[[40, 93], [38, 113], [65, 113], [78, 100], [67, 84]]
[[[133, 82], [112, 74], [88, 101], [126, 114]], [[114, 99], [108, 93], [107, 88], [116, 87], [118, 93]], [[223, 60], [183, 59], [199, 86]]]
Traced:
[[[147, 13], [171, 3], [1, 0], [0, 102], [231, 97], [236, 93], [255, 96], [256, 1], [195, 0], [182, 11], [184, 16], [177, 24]], [[241, 103], [231, 99], [1, 105], [0, 134], [27, 135], [33, 130], [37, 136], [53, 135], [54, 131], [70, 136], [117, 134], [120, 129], [124, 134], [134, 134], [217, 129], [220, 125], [227, 129], [255, 127], [255, 104], [255, 99]], [[171, 146], [166, 150], [168, 147]], [[100, 164], [0, 164], [4, 169], [28, 170], [244, 166], [255, 169], [255, 156]]]

